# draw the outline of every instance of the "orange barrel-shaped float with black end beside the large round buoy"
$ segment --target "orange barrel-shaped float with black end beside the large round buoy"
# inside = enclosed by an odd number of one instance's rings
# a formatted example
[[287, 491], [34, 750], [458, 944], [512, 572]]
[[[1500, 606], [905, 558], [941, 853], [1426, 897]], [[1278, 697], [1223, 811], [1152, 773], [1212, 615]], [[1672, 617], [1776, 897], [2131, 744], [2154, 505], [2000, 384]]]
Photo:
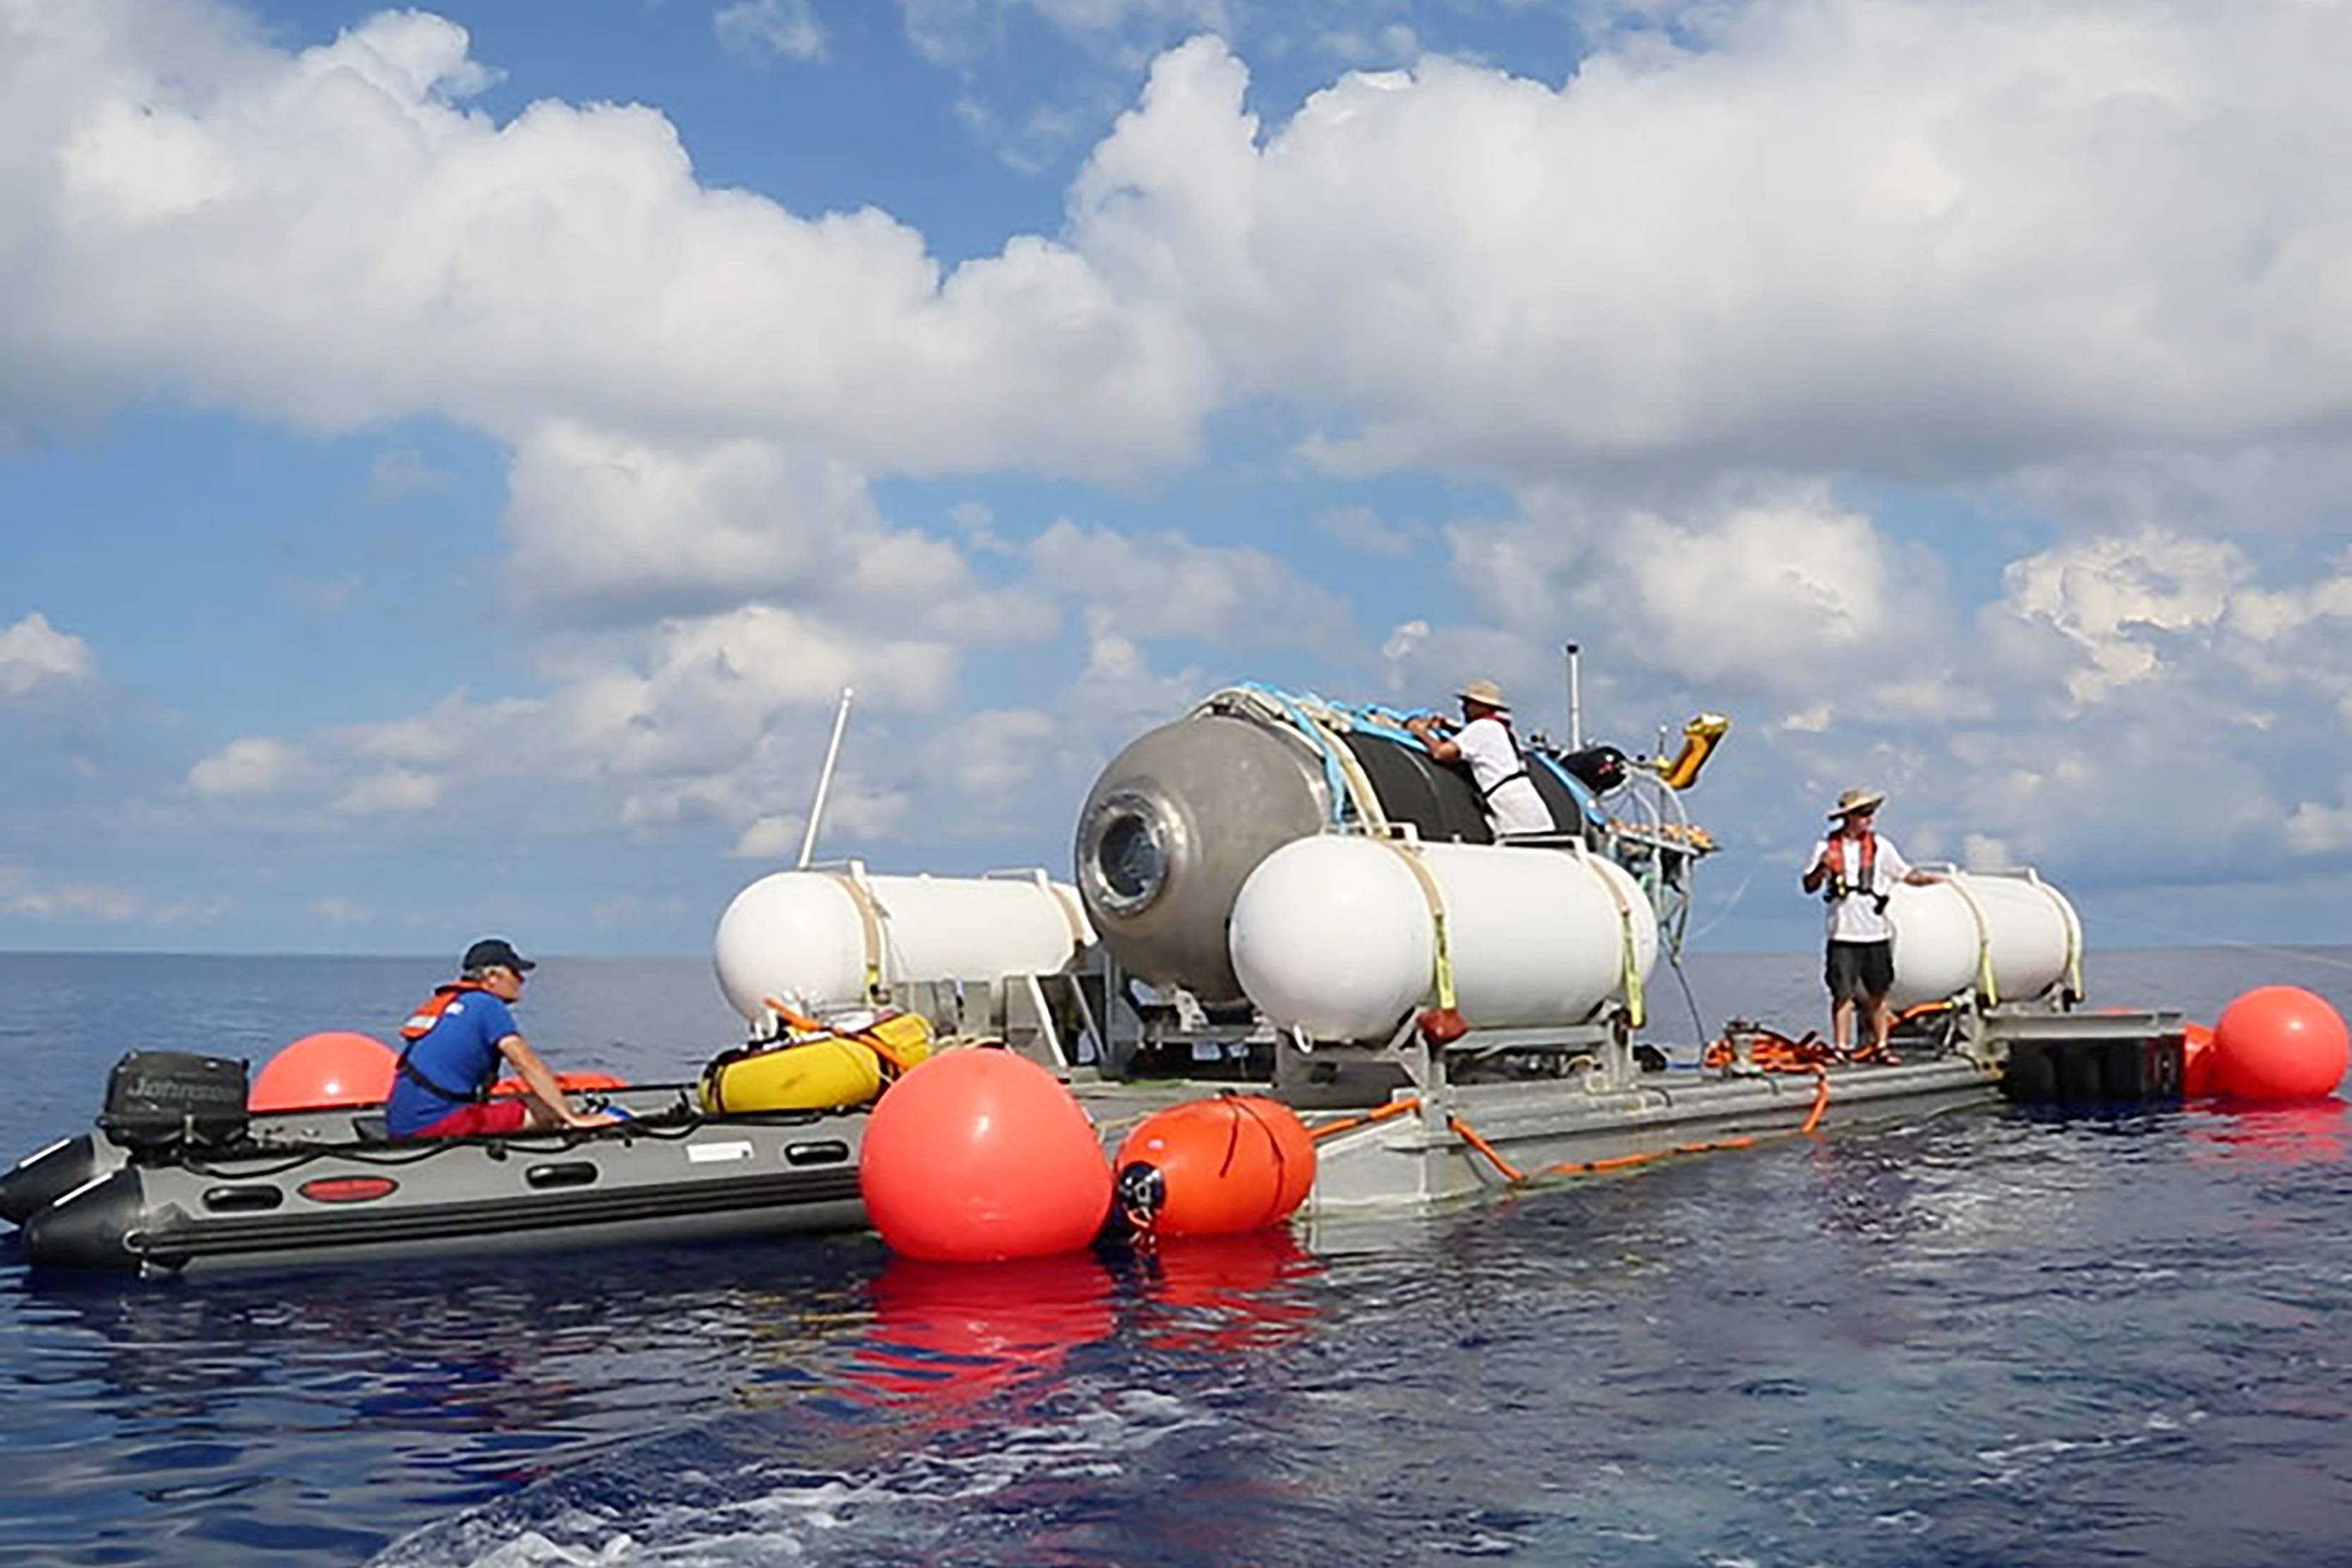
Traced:
[[1117, 1199], [1155, 1237], [1232, 1237], [1291, 1218], [1315, 1185], [1315, 1135], [1263, 1095], [1185, 1100], [1120, 1145]]

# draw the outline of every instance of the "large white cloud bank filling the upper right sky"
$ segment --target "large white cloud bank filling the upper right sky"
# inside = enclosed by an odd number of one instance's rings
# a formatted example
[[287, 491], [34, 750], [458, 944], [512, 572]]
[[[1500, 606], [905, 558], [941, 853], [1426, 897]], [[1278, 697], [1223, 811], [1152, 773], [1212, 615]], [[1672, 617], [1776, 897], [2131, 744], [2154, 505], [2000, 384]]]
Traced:
[[1272, 129], [1195, 40], [1094, 150], [1080, 249], [1244, 386], [1345, 409], [1308, 449], [1348, 470], [1955, 475], [2345, 430], [2352, 106], [2319, 61], [2352, 12], [1700, 19], [1562, 85], [1350, 75]]

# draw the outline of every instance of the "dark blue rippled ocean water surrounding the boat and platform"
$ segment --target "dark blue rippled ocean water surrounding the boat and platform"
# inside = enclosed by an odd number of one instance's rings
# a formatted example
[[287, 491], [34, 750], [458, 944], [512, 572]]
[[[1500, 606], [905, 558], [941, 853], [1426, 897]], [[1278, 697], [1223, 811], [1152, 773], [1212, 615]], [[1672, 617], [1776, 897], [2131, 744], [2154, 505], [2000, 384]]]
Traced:
[[[1818, 1023], [1693, 959], [1661, 1032]], [[0, 1147], [127, 1048], [383, 1034], [414, 959], [0, 957]], [[2352, 950], [2093, 954], [2211, 1020]], [[687, 1077], [708, 969], [548, 961], [557, 1067]], [[1983, 1110], [1423, 1220], [1004, 1267], [868, 1237], [33, 1279], [0, 1244], [0, 1561], [2336, 1563], [2343, 1103]]]

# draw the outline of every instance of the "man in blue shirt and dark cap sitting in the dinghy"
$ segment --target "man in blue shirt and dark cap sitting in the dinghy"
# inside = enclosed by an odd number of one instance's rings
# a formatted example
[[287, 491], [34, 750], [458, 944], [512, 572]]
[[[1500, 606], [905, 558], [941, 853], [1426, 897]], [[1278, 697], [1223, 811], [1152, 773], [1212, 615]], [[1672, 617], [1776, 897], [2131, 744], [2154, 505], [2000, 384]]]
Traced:
[[[564, 1100], [555, 1072], [524, 1044], [513, 1004], [522, 978], [536, 969], [503, 936], [466, 950], [461, 973], [400, 1025], [407, 1046], [383, 1103], [383, 1126], [393, 1138], [468, 1138], [520, 1133], [524, 1128], [604, 1126], [607, 1114], [583, 1114]], [[499, 1067], [510, 1065], [524, 1091], [489, 1100]]]

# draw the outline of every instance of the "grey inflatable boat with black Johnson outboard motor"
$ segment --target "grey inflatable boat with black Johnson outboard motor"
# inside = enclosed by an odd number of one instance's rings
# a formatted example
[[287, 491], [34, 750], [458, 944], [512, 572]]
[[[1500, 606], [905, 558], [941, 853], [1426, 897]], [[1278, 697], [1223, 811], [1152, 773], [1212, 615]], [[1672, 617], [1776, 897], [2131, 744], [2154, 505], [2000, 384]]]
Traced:
[[708, 1112], [703, 1084], [649, 1084], [583, 1095], [626, 1112], [612, 1126], [393, 1143], [374, 1107], [247, 1114], [242, 1063], [141, 1058], [94, 1131], [0, 1175], [26, 1262], [195, 1274], [866, 1222], [854, 1107]]

